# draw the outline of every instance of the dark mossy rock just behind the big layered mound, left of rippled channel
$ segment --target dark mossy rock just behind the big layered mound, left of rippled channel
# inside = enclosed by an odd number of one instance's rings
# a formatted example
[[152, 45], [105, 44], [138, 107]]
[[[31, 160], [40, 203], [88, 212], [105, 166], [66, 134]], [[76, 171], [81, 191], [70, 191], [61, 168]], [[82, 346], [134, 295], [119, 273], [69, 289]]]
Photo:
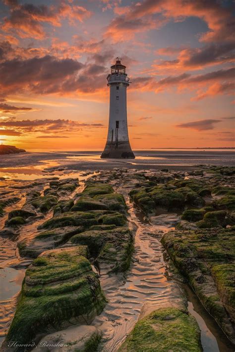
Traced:
[[107, 264], [110, 272], [128, 269], [133, 251], [131, 231], [127, 227], [89, 230], [70, 239], [72, 244], [86, 245], [98, 265]]

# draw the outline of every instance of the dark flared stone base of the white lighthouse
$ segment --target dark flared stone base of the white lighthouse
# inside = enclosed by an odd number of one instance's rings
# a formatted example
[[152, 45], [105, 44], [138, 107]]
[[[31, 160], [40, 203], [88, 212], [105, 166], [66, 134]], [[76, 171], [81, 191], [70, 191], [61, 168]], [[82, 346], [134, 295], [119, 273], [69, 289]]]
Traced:
[[101, 154], [103, 159], [134, 159], [134, 153], [131, 150], [130, 143], [128, 142], [108, 142], [105, 149]]

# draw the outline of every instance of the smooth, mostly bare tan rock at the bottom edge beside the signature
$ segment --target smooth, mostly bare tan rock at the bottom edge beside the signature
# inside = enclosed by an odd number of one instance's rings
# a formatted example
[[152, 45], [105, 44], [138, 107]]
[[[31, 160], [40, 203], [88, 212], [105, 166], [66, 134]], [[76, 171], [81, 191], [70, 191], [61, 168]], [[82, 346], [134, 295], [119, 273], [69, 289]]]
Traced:
[[33, 351], [96, 351], [102, 332], [92, 325], [80, 325], [45, 336]]

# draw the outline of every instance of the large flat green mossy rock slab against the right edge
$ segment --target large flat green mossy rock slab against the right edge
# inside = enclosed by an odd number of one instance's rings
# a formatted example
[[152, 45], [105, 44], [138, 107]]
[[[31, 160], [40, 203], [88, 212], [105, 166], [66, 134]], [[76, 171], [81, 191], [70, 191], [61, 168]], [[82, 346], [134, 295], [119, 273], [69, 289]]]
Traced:
[[[230, 320], [232, 315], [227, 313], [230, 313], [227, 307], [231, 305], [229, 302], [233, 296], [231, 290], [235, 290], [229, 279], [232, 272], [234, 275], [235, 227], [171, 231], [164, 234], [162, 243], [202, 304], [235, 343], [235, 332]], [[228, 265], [230, 268], [229, 278], [223, 284], [219, 284], [222, 269], [218, 265]], [[225, 292], [227, 297], [230, 292], [230, 298], [225, 298]]]

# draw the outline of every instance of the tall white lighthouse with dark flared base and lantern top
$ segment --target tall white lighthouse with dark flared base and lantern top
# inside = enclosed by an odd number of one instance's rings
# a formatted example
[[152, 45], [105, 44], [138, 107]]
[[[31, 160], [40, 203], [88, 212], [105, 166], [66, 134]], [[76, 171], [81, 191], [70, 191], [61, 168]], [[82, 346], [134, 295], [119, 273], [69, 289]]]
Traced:
[[121, 65], [121, 59], [117, 58], [107, 77], [107, 85], [110, 87], [109, 130], [101, 158], [135, 158], [128, 137], [126, 88], [130, 78], [127, 77], [125, 69], [126, 67]]

